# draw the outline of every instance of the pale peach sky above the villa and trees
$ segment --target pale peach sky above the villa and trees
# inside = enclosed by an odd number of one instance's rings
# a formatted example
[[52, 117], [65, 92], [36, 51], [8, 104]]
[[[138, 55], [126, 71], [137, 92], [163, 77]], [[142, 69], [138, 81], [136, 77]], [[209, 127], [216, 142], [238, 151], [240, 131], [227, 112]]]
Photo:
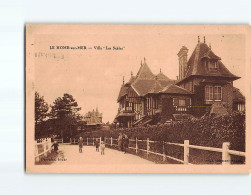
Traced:
[[[212, 50], [225, 66], [233, 74], [244, 77], [245, 36], [234, 33], [234, 30], [209, 30], [177, 29], [174, 26], [40, 26], [34, 29], [34, 45], [31, 46], [34, 47], [31, 55], [36, 53], [35, 90], [49, 104], [69, 93], [82, 107], [81, 114], [98, 106], [103, 113], [103, 122], [112, 122], [118, 110], [116, 100], [123, 75], [128, 81], [131, 71], [135, 75], [145, 57], [154, 74], [158, 74], [161, 68], [166, 76], [176, 79], [179, 49], [186, 46], [190, 57], [198, 42], [197, 36], [203, 42], [204, 35], [206, 43], [211, 43]], [[50, 50], [50, 46], [58, 45], [93, 49]], [[94, 46], [120, 46], [124, 49], [95, 50]], [[243, 78], [234, 82], [243, 94], [244, 83]]]

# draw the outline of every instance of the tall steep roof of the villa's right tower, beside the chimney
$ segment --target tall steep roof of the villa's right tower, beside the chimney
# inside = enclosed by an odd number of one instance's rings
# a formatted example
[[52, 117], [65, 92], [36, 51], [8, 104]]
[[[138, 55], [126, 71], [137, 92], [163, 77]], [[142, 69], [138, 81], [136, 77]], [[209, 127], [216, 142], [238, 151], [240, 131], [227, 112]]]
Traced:
[[[203, 58], [215, 59], [218, 61], [218, 70], [209, 71], [205, 63], [202, 63]], [[220, 61], [221, 58], [214, 54], [210, 47], [206, 43], [198, 43], [187, 62], [187, 72], [185, 78], [188, 78], [193, 75], [200, 76], [222, 76], [229, 77], [233, 80], [238, 79], [236, 75], [232, 74], [225, 65]], [[183, 79], [183, 80], [184, 80]]]

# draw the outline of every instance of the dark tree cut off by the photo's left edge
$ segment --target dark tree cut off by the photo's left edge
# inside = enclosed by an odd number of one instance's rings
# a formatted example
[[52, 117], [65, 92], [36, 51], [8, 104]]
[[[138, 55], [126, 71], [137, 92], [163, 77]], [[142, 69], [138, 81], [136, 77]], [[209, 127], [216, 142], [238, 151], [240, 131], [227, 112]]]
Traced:
[[48, 116], [49, 106], [44, 97], [35, 92], [35, 135], [41, 136], [44, 132], [42, 126], [45, 118]]

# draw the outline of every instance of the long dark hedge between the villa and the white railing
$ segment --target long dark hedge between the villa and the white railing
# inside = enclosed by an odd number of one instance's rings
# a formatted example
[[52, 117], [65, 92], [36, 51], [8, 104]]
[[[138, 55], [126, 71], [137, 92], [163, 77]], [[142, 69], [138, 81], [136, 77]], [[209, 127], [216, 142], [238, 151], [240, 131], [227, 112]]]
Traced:
[[[157, 141], [159, 144], [151, 147], [151, 150], [162, 153], [163, 141], [173, 143], [184, 143], [189, 140], [192, 145], [222, 148], [223, 142], [230, 142], [230, 149], [245, 152], [245, 113], [234, 112], [230, 115], [220, 117], [204, 117], [190, 119], [172, 124], [159, 124], [147, 127], [132, 127], [126, 129], [97, 130], [83, 132], [76, 137], [113, 137], [117, 138], [119, 133], [125, 133], [130, 139]], [[159, 146], [158, 146], [159, 145]], [[168, 147], [165, 149], [167, 155], [182, 159], [182, 147]], [[191, 149], [190, 161], [194, 163], [205, 163], [221, 159], [221, 154]], [[216, 156], [216, 157], [213, 157]], [[245, 160], [233, 157], [238, 162]], [[241, 160], [240, 160], [241, 159]], [[210, 162], [209, 162], [210, 163]]]

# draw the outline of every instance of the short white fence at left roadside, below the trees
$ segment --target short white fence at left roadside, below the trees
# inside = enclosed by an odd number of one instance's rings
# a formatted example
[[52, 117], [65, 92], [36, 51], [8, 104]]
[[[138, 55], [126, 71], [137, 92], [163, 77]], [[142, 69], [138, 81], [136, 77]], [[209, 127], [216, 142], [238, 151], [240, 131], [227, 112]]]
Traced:
[[39, 143], [35, 141], [35, 162], [40, 161], [40, 156], [47, 156], [51, 152], [51, 138], [44, 138]]

